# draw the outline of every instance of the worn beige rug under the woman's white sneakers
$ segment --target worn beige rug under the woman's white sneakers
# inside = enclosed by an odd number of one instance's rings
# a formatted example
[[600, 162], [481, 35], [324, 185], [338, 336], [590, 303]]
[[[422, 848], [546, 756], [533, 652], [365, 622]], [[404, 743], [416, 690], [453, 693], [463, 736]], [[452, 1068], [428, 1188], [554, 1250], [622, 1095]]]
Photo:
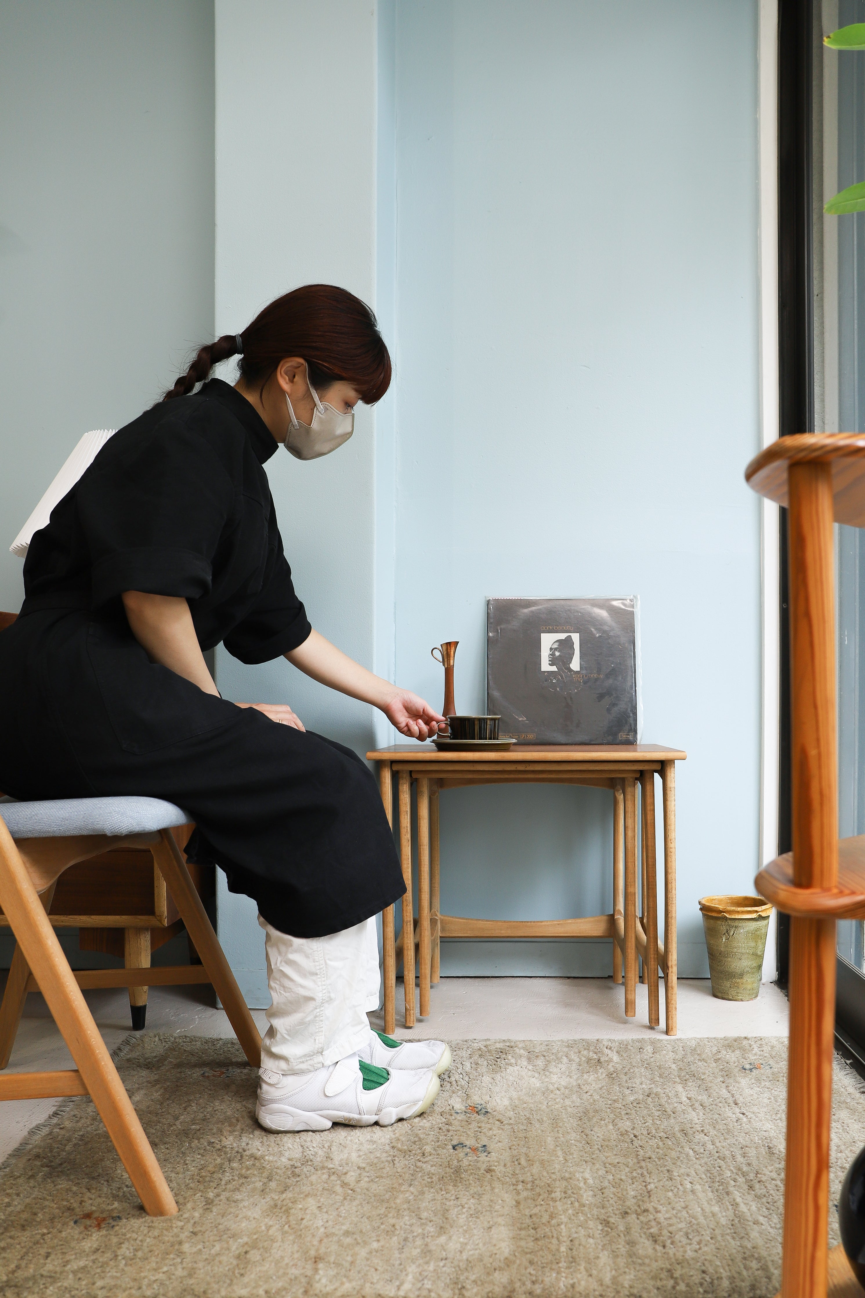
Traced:
[[[0, 1169], [0, 1292], [141, 1298], [770, 1298], [786, 1042], [459, 1042], [433, 1108], [271, 1136], [235, 1042], [119, 1067], [180, 1206], [140, 1208], [88, 1099]], [[838, 1064], [833, 1195], [865, 1142]], [[833, 1242], [838, 1238], [834, 1212]]]

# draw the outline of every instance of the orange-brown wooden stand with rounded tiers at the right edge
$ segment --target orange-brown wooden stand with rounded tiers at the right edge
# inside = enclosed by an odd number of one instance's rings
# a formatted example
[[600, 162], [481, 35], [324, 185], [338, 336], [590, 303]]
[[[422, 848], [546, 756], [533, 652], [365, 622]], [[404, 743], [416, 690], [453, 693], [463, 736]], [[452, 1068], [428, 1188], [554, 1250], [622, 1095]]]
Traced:
[[861, 1290], [827, 1242], [835, 920], [865, 919], [865, 837], [838, 842], [833, 522], [865, 527], [865, 436], [782, 437], [746, 479], [790, 511], [792, 853], [756, 877], [791, 916], [781, 1294], [842, 1298]]

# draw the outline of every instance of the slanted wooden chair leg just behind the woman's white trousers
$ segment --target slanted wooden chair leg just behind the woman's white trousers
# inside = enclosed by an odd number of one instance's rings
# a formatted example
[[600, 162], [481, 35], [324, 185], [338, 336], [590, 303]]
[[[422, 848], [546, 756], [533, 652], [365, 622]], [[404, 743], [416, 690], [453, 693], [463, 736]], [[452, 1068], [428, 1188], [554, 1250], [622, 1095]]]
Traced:
[[192, 938], [201, 962], [210, 976], [217, 996], [222, 1001], [228, 1022], [235, 1029], [235, 1035], [243, 1046], [253, 1068], [261, 1067], [261, 1036], [255, 1027], [243, 993], [237, 986], [237, 980], [231, 972], [231, 966], [217, 940], [213, 925], [204, 909], [204, 902], [196, 890], [196, 885], [189, 877], [187, 863], [180, 855], [180, 849], [174, 841], [170, 829], [162, 829], [162, 841], [152, 848], [153, 858], [162, 872], [166, 887], [174, 897], [174, 903], [180, 911], [180, 919], [187, 925], [187, 932]]

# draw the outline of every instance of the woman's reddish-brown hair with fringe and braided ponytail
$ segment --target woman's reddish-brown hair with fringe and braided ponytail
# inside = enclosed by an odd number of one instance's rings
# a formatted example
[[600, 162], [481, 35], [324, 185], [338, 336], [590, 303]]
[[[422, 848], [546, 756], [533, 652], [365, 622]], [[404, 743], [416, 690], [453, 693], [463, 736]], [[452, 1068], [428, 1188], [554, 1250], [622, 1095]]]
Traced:
[[[284, 293], [259, 312], [240, 337], [240, 373], [250, 387], [258, 383], [263, 388], [287, 356], [306, 361], [316, 391], [342, 379], [371, 405], [390, 386], [390, 356], [375, 315], [359, 297], [335, 284], [305, 284]], [[204, 383], [214, 365], [237, 356], [237, 350], [233, 334], [198, 348], [163, 400], [187, 396]]]

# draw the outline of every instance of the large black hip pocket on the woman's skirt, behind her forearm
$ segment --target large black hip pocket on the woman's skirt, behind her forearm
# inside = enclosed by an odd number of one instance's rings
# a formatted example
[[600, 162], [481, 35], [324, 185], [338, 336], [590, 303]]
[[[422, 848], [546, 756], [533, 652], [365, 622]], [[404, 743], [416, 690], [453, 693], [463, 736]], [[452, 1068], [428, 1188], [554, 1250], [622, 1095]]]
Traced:
[[87, 655], [112, 729], [127, 753], [152, 753], [236, 720], [233, 704], [150, 662], [122, 626], [91, 622]]

